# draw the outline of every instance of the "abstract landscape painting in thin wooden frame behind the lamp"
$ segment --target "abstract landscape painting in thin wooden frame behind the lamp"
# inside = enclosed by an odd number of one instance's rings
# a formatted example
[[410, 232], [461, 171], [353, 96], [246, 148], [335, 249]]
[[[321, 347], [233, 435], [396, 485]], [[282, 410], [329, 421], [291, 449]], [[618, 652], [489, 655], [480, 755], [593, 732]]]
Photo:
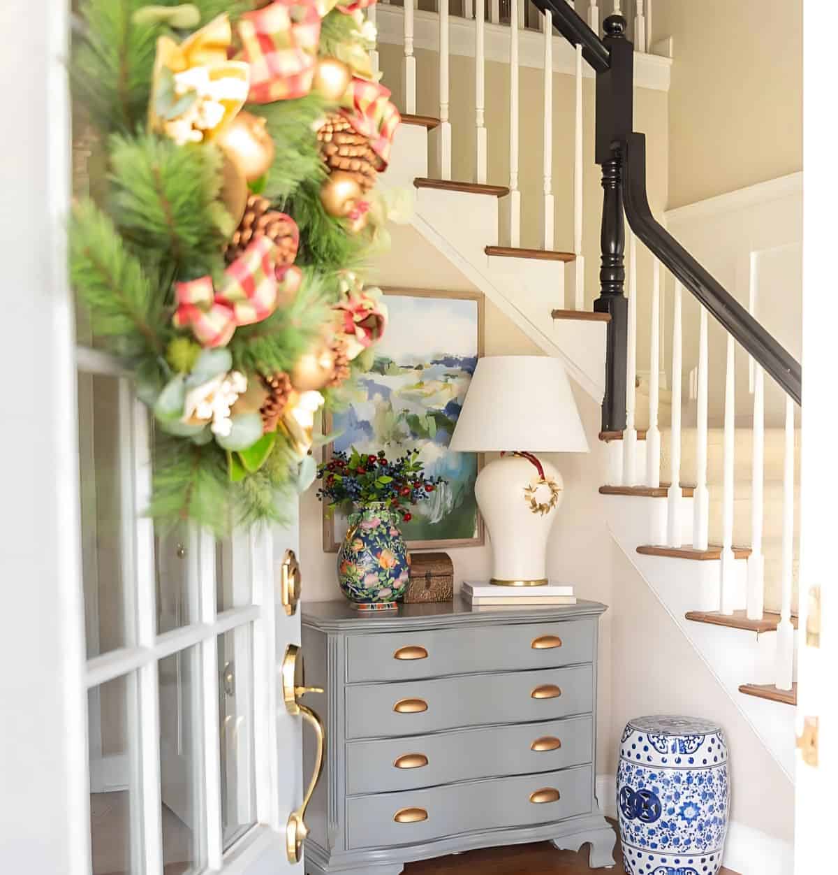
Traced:
[[[360, 377], [348, 406], [327, 417], [337, 434], [332, 451], [385, 451], [393, 457], [416, 448], [429, 477], [443, 486], [411, 507], [402, 523], [410, 549], [479, 546], [483, 520], [474, 481], [483, 459], [450, 451], [448, 444], [471, 374], [483, 355], [484, 298], [480, 292], [385, 289], [389, 319], [375, 346], [373, 367]], [[324, 512], [323, 546], [337, 552], [346, 517]]]

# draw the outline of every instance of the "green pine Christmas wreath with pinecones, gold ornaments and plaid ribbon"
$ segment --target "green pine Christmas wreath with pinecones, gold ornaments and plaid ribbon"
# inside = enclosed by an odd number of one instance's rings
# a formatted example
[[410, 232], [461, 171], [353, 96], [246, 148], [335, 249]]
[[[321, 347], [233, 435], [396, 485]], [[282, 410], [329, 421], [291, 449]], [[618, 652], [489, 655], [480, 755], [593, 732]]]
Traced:
[[81, 4], [73, 125], [105, 172], [71, 278], [153, 412], [158, 521], [282, 520], [315, 415], [371, 364], [387, 311], [360, 268], [400, 118], [369, 4]]

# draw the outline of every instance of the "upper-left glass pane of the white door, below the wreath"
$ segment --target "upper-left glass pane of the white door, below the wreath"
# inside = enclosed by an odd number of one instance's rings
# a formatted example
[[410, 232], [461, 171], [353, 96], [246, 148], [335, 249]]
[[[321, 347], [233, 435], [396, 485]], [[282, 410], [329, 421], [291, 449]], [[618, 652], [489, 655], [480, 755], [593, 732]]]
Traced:
[[121, 421], [131, 398], [125, 381], [79, 374], [81, 563], [87, 656], [133, 642], [130, 526], [133, 458]]

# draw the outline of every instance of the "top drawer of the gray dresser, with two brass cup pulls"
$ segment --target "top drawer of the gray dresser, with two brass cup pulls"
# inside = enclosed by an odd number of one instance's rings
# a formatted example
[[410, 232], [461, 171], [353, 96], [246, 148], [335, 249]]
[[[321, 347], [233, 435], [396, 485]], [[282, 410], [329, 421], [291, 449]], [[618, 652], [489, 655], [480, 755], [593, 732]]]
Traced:
[[350, 635], [346, 680], [409, 681], [480, 671], [553, 669], [593, 662], [596, 618]]

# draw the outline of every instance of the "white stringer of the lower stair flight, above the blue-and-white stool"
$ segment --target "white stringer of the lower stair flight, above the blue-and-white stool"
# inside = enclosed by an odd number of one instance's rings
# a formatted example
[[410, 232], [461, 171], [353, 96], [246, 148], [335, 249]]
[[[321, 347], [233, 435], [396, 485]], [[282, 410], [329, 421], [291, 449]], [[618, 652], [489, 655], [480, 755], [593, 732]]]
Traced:
[[[639, 545], [648, 542], [647, 533], [653, 525], [653, 514], [660, 511], [654, 505], [666, 502], [666, 499], [617, 495], [605, 495], [603, 499], [611, 537], [653, 591], [661, 606], [701, 657], [788, 780], [793, 782], [794, 709], [765, 699], [743, 696], [739, 692], [739, 684], [751, 683], [748, 681], [749, 677], [758, 677], [761, 683], [771, 683], [774, 653], [771, 644], [776, 633], [757, 634], [744, 629], [711, 626], [687, 620], [688, 611], [707, 610], [706, 606], [714, 599], [715, 604], [718, 604], [721, 562], [696, 562], [639, 554]], [[687, 506], [692, 502], [685, 500], [684, 503]], [[692, 519], [691, 513], [683, 515]], [[684, 542], [688, 543], [688, 540], [685, 539]], [[737, 560], [735, 564], [739, 607], [744, 606], [747, 563]], [[697, 608], [696, 605], [699, 604], [705, 607]]]

